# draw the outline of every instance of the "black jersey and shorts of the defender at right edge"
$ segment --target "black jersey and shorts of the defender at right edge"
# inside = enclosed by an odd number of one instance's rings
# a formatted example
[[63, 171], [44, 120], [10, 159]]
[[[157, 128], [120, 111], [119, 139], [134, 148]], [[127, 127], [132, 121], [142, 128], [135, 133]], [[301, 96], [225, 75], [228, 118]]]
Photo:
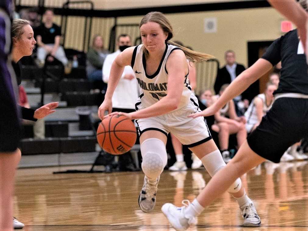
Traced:
[[276, 39], [262, 59], [273, 66], [281, 60], [281, 77], [272, 108], [247, 141], [258, 155], [278, 163], [289, 146], [308, 134], [308, 66], [297, 30]]

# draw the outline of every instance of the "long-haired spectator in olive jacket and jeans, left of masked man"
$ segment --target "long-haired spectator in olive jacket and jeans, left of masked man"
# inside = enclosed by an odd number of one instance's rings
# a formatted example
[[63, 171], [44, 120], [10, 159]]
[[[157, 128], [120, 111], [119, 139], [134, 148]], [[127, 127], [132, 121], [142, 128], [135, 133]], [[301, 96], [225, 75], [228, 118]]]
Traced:
[[[100, 35], [95, 35], [92, 41], [92, 47], [87, 52], [87, 77], [90, 82], [101, 81], [107, 89], [107, 84], [103, 83], [103, 63], [109, 51], [104, 49], [103, 38]], [[109, 70], [110, 71], [110, 70]]]

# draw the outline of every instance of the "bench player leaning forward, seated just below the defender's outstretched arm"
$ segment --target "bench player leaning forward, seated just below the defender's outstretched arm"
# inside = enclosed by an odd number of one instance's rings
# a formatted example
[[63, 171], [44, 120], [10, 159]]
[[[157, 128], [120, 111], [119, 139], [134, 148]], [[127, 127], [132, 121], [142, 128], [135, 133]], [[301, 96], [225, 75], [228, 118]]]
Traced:
[[[229, 84], [221, 86], [219, 95], [213, 96], [213, 103], [217, 101], [228, 86]], [[225, 163], [228, 163], [231, 160], [228, 151], [229, 135], [236, 134], [237, 145], [240, 147], [247, 137], [245, 128], [246, 120], [245, 117], [237, 116], [233, 100], [230, 100], [220, 111], [215, 113], [214, 117], [216, 123], [212, 126], [212, 130], [218, 132], [221, 155]]]

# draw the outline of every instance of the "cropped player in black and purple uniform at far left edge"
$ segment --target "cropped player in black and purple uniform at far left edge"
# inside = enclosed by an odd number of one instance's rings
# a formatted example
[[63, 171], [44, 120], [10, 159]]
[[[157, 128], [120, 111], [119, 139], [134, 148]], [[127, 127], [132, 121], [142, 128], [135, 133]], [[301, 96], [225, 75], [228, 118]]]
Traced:
[[[17, 98], [14, 89], [17, 89], [14, 72], [9, 68], [10, 60], [10, 13], [12, 2], [0, 2], [0, 230], [13, 230], [13, 195], [15, 169], [19, 162], [17, 144], [20, 137]], [[15, 83], [15, 84], [14, 84]], [[10, 142], [6, 142], [10, 138]]]

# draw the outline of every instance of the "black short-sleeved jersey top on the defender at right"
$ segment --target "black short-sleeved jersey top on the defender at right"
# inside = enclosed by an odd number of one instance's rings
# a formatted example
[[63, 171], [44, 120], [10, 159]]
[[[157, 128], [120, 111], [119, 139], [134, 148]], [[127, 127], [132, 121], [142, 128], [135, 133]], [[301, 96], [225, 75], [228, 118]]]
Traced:
[[281, 60], [281, 77], [277, 93], [301, 93], [308, 95], [308, 74], [306, 56], [299, 43], [297, 30], [289, 31], [276, 39], [267, 48], [262, 59], [273, 66]]

